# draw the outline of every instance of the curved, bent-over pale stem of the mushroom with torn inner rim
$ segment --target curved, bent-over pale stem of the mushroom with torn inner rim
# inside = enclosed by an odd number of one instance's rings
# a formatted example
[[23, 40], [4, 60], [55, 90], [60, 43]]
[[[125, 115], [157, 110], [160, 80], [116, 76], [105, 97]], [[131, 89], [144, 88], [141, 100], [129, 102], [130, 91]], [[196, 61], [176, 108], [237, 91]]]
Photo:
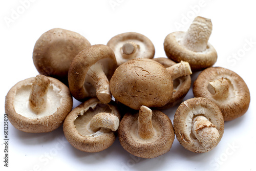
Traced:
[[90, 124], [90, 128], [92, 131], [97, 132], [102, 127], [110, 129], [112, 131], [116, 131], [119, 126], [119, 119], [117, 116], [101, 112], [93, 116]]

